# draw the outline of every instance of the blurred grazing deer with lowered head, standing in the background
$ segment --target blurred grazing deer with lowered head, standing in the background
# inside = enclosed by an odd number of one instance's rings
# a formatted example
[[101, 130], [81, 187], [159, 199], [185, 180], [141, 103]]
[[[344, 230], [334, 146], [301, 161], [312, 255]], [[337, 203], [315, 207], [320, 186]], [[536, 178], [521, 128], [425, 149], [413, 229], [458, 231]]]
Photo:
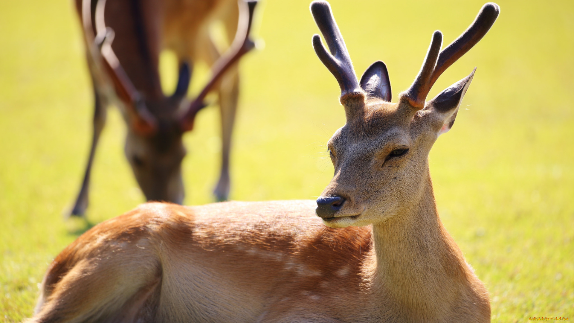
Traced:
[[[222, 162], [214, 194], [224, 201], [230, 192], [231, 134], [239, 95], [237, 61], [254, 42], [249, 39], [254, 3], [244, 0], [76, 0], [83, 25], [88, 68], [94, 87], [93, 136], [82, 187], [72, 216], [88, 207], [91, 168], [107, 106], [119, 107], [127, 125], [125, 155], [148, 201], [181, 204], [185, 191], [181, 162], [186, 155], [183, 134], [193, 129], [196, 114], [216, 92], [221, 116]], [[238, 6], [239, 4], [239, 6]], [[242, 16], [243, 18], [240, 18]], [[246, 20], [247, 19], [247, 20]], [[220, 53], [210, 37], [212, 22], [223, 22], [234, 35], [227, 52]], [[92, 23], [95, 22], [95, 23]], [[114, 41], [115, 39], [115, 41]], [[165, 95], [158, 71], [163, 49], [176, 54], [177, 86]], [[211, 66], [211, 79], [197, 97], [186, 96], [193, 63]]]

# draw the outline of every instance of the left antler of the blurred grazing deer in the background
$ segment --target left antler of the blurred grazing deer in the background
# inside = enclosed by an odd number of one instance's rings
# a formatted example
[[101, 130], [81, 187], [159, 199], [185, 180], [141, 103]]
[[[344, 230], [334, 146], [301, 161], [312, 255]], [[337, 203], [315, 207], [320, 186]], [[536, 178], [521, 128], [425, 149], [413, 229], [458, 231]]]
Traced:
[[144, 99], [135, 89], [133, 83], [123, 70], [118, 57], [115, 56], [111, 43], [114, 40], [114, 30], [104, 23], [104, 9], [106, 0], [96, 3], [95, 21], [98, 32], [94, 37], [94, 25], [92, 24], [91, 0], [82, 2], [82, 21], [88, 51], [90, 51], [95, 64], [102, 64], [107, 70], [107, 74], [114, 82], [118, 96], [125, 103], [127, 115], [131, 121], [132, 128], [141, 134], [152, 134], [157, 130], [156, 118], [145, 106]]

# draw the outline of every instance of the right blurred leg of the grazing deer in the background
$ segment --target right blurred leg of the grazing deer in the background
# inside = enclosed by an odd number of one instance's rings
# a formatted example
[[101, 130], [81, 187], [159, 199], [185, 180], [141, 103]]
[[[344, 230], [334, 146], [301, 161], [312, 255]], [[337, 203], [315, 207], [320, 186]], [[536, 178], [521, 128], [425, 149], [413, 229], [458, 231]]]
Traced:
[[229, 159], [231, 152], [231, 133], [235, 122], [235, 111], [239, 97], [239, 74], [233, 67], [223, 77], [219, 88], [219, 111], [221, 114], [222, 160], [219, 180], [214, 194], [217, 201], [226, 201], [230, 191]]

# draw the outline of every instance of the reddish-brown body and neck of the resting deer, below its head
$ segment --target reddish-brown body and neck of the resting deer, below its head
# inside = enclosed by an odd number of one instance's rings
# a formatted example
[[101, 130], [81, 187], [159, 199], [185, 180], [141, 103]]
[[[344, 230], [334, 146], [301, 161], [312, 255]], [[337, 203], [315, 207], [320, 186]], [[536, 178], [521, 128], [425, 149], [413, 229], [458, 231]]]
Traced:
[[56, 257], [30, 322], [487, 321], [486, 290], [432, 207], [373, 230], [328, 228], [313, 208], [142, 205]]

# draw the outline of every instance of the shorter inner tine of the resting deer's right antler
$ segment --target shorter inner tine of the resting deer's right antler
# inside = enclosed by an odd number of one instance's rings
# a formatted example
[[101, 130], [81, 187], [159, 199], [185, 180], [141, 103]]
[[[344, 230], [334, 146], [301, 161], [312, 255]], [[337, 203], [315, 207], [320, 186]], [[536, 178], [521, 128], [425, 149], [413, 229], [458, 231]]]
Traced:
[[439, 57], [440, 48], [443, 45], [443, 34], [436, 30], [432, 35], [429, 49], [426, 51], [426, 57], [422, 63], [421, 70], [417, 78], [406, 91], [405, 97], [409, 100], [410, 105], [422, 109], [425, 106], [426, 95], [430, 91], [430, 79], [435, 71], [436, 61]]

